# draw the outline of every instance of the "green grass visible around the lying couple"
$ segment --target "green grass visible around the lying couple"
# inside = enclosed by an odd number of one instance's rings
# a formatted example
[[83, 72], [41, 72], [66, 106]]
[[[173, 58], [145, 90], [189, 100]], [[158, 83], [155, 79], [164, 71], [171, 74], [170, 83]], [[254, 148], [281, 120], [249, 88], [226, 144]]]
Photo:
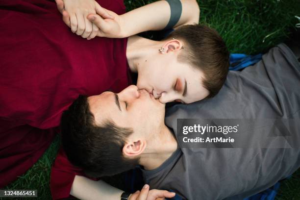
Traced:
[[[127, 11], [148, 4], [125, 0]], [[198, 0], [200, 23], [220, 32], [230, 52], [256, 54], [286, 40], [300, 16], [299, 0]], [[38, 189], [38, 199], [51, 199], [50, 167], [59, 147], [56, 137], [49, 149], [25, 175], [5, 189]], [[3, 198], [2, 198], [3, 199]], [[282, 183], [276, 200], [300, 200], [300, 170]]]

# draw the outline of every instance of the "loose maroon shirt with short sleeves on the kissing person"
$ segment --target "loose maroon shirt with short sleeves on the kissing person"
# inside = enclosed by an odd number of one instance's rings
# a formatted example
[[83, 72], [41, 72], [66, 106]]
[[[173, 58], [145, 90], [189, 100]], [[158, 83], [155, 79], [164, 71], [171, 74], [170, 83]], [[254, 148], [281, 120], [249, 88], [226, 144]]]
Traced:
[[[99, 4], [125, 13], [122, 0]], [[0, 0], [0, 188], [49, 147], [61, 114], [82, 95], [128, 84], [126, 39], [86, 40], [62, 21], [54, 0]], [[51, 172], [54, 199], [69, 196], [74, 168], [59, 151]]]

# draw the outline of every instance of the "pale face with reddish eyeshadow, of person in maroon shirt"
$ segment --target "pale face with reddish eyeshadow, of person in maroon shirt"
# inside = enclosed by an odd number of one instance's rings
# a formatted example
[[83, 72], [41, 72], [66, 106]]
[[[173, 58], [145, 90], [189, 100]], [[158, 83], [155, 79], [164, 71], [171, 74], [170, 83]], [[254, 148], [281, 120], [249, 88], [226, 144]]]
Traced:
[[192, 103], [209, 95], [202, 85], [204, 74], [174, 57], [158, 56], [141, 64], [137, 87], [147, 90], [162, 103]]

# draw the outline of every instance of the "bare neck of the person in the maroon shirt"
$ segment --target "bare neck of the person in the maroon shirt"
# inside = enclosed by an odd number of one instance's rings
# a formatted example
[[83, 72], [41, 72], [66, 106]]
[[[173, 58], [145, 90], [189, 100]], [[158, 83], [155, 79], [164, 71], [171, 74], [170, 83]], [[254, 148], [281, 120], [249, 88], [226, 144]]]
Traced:
[[161, 43], [137, 35], [130, 36], [127, 41], [126, 57], [131, 72], [138, 73], [142, 63], [157, 53]]

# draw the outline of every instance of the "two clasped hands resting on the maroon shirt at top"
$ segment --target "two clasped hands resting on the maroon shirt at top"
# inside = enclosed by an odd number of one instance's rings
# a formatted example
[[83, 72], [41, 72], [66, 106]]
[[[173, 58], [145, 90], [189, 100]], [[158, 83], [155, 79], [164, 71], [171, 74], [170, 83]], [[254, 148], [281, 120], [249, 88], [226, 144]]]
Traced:
[[123, 38], [122, 19], [95, 0], [55, 0], [63, 21], [72, 32], [88, 40], [99, 36]]

